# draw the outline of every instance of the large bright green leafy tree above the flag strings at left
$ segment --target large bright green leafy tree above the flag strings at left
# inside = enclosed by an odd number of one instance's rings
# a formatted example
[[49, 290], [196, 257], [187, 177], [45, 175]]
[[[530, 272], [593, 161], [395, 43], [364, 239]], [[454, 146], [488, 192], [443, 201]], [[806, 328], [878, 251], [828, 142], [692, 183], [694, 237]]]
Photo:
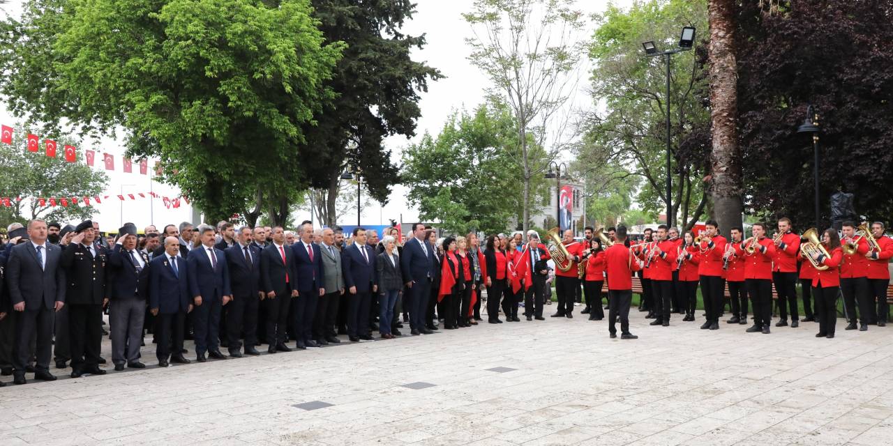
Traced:
[[122, 128], [128, 154], [160, 157], [164, 180], [210, 220], [250, 209], [258, 191], [282, 219], [343, 45], [324, 43], [309, 0], [268, 3], [29, 0], [4, 21], [0, 92], [45, 128]]

